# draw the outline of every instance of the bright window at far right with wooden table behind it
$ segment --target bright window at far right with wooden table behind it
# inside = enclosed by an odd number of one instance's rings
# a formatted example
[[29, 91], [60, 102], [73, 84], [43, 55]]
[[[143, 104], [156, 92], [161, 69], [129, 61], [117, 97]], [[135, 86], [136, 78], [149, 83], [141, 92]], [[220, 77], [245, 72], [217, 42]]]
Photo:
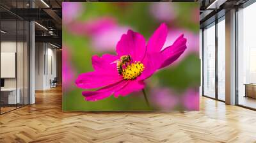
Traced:
[[237, 103], [256, 109], [256, 3], [237, 11]]

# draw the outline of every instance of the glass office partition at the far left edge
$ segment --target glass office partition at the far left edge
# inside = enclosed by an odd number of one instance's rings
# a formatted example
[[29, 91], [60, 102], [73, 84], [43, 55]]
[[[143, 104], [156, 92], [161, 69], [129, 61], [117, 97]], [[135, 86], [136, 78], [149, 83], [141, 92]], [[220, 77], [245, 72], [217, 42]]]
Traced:
[[[8, 3], [1, 1], [0, 4]], [[25, 8], [28, 1], [12, 1]], [[29, 104], [29, 22], [0, 8], [0, 114]]]

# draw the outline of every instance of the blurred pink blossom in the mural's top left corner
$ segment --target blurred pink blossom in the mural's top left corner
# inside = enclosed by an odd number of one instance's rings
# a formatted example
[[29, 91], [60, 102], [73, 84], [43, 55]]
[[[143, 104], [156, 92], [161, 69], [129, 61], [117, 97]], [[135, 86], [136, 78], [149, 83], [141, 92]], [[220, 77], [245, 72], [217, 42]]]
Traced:
[[62, 19], [63, 24], [68, 24], [76, 19], [82, 11], [81, 3], [77, 2], [63, 2], [62, 3]]

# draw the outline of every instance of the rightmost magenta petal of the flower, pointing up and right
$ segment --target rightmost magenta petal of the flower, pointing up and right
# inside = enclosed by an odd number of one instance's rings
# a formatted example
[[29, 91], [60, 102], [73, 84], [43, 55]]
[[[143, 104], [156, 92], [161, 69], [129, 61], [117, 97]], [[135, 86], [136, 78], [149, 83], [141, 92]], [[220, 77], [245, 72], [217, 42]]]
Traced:
[[161, 51], [161, 55], [163, 57], [163, 64], [160, 68], [164, 68], [169, 64], [172, 64], [173, 61], [178, 59], [180, 55], [186, 50], [186, 38], [183, 37], [183, 34], [175, 40], [172, 46], [166, 47]]

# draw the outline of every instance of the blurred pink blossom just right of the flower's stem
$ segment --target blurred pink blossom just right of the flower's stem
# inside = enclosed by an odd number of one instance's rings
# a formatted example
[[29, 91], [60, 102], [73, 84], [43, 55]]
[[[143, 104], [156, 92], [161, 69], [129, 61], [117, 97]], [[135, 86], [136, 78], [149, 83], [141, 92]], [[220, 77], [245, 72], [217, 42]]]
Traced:
[[150, 93], [150, 102], [160, 110], [173, 109], [179, 102], [177, 96], [173, 96], [173, 93], [168, 88], [156, 88], [152, 89]]

